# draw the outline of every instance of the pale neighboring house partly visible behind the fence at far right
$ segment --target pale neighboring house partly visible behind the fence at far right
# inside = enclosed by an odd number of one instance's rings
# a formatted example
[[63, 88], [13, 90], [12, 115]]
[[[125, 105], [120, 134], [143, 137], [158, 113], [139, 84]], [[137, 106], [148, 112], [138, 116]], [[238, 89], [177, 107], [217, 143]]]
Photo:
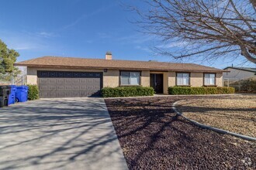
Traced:
[[223, 73], [224, 79], [244, 80], [252, 77], [256, 78], [256, 66], [255, 68], [228, 66], [224, 70], [229, 71], [227, 73]]

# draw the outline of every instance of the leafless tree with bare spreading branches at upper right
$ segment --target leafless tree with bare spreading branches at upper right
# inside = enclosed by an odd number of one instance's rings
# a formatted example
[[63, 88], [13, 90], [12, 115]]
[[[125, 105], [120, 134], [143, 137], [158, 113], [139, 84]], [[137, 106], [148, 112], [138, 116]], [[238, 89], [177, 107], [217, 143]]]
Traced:
[[256, 0], [144, 0], [140, 26], [180, 50], [157, 48], [175, 59], [242, 55], [256, 63]]

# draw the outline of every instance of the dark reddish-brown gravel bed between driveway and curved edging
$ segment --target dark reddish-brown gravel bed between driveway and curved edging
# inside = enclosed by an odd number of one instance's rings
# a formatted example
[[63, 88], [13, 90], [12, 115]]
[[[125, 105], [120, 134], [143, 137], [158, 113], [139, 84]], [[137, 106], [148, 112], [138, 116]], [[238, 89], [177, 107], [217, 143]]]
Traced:
[[189, 98], [198, 97], [106, 99], [128, 167], [255, 169], [254, 142], [198, 128], [176, 116], [171, 104]]

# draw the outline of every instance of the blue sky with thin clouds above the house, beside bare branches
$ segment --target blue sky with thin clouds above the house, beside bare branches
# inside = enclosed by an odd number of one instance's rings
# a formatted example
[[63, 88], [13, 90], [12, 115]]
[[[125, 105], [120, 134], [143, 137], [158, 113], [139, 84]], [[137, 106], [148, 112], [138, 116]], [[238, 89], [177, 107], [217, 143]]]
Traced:
[[[126, 5], [144, 8], [129, 0], [1, 0], [0, 39], [16, 49], [18, 61], [40, 56], [74, 56], [104, 59], [107, 51], [113, 59], [184, 61], [160, 56], [152, 50], [156, 40], [145, 35], [133, 21], [135, 12]], [[182, 43], [168, 48], [182, 47]], [[212, 61], [189, 59], [223, 69], [226, 66], [255, 66], [239, 59]]]

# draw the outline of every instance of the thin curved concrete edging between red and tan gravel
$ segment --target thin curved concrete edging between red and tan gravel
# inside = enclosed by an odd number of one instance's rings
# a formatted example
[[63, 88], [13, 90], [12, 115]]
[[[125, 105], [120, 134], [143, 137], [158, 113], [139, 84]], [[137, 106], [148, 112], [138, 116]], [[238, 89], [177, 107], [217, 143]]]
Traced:
[[211, 126], [208, 126], [206, 124], [200, 124], [199, 122], [197, 121], [193, 121], [191, 119], [189, 119], [188, 117], [185, 117], [182, 112], [179, 112], [177, 109], [176, 109], [176, 104], [178, 104], [179, 102], [181, 101], [185, 101], [185, 100], [178, 100], [178, 101], [175, 101], [174, 104], [172, 104], [172, 109], [175, 110], [175, 113], [178, 114], [178, 116], [182, 116], [184, 117], [187, 121], [190, 121], [192, 122], [192, 124], [195, 124], [201, 128], [206, 128], [206, 129], [209, 129], [209, 130], [212, 130], [212, 131], [216, 131], [216, 132], [219, 132], [219, 133], [222, 133], [222, 134], [230, 134], [230, 135], [233, 135], [237, 138], [243, 138], [247, 141], [256, 141], [256, 138], [253, 138], [251, 136], [246, 136], [246, 135], [243, 135], [243, 134], [237, 134], [237, 133], [234, 133], [234, 132], [231, 132], [231, 131], [226, 131], [226, 130], [223, 130], [223, 129], [219, 129], [219, 128], [213, 128]]

